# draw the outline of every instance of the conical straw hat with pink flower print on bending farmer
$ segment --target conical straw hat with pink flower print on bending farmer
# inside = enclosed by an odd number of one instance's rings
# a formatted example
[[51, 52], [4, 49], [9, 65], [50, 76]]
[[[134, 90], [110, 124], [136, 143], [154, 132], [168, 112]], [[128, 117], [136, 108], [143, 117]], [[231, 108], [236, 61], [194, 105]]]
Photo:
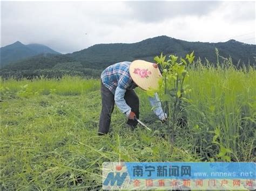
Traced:
[[134, 60], [129, 69], [132, 80], [143, 90], [158, 88], [158, 80], [162, 77], [157, 64], [144, 60]]

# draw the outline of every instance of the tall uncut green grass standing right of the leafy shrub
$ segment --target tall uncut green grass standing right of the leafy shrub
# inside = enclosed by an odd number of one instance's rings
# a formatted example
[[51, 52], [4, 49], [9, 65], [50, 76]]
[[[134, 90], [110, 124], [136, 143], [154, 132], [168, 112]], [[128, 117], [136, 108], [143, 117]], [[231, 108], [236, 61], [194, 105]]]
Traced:
[[218, 154], [220, 160], [229, 161], [230, 156], [235, 161], [252, 160], [256, 127], [255, 70], [252, 67], [237, 70], [232, 66], [216, 69], [197, 62], [190, 76], [187, 83], [192, 92], [188, 96], [191, 103], [187, 114], [198, 136], [195, 147], [204, 156], [211, 149], [218, 151], [214, 155]]

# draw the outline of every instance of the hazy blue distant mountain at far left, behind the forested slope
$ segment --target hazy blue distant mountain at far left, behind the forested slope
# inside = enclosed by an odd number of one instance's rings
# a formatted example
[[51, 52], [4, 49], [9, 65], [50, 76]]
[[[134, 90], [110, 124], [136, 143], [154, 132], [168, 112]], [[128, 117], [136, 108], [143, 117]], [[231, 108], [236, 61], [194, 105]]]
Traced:
[[60, 54], [50, 47], [42, 44], [28, 44], [24, 45], [21, 42], [17, 41], [13, 44], [4, 46], [0, 48], [1, 61], [0, 65], [4, 66], [11, 62], [16, 62], [17, 60], [32, 57], [41, 53], [52, 53]]

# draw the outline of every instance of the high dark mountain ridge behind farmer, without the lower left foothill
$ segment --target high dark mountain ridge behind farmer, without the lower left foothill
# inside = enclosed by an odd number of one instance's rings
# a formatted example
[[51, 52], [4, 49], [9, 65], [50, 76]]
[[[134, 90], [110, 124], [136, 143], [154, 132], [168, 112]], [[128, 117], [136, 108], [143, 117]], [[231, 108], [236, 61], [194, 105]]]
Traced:
[[219, 49], [221, 56], [231, 56], [234, 64], [239, 60], [246, 64], [248, 60], [250, 63], [254, 62], [256, 45], [240, 43], [236, 40], [228, 40], [225, 43], [187, 42], [167, 36], [149, 38], [131, 44], [96, 44], [66, 55], [80, 60], [88, 67], [93, 64], [93, 67], [102, 69], [102, 67], [122, 60], [145, 59], [152, 62], [153, 57], [161, 52], [185, 56], [188, 52], [194, 51], [196, 58], [200, 57], [203, 60], [207, 58], [210, 62], [217, 62], [215, 47]]

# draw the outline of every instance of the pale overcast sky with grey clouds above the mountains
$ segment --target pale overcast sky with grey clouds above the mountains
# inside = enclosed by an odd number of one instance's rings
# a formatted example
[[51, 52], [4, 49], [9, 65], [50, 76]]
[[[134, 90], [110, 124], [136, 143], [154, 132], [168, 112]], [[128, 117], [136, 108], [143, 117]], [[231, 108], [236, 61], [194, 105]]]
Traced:
[[166, 35], [255, 44], [255, 2], [2, 2], [1, 46], [19, 40], [61, 53]]

